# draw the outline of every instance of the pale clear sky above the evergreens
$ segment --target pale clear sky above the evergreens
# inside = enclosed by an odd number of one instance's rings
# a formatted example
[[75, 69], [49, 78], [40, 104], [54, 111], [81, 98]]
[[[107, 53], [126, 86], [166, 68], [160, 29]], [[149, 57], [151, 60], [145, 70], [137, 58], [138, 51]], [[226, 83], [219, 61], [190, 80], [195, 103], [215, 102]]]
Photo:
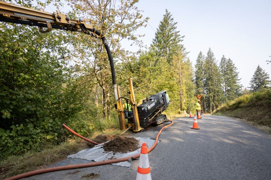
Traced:
[[144, 17], [150, 18], [148, 27], [137, 32], [146, 34], [142, 40], [148, 47], [168, 9], [178, 22], [178, 31], [185, 35], [182, 43], [190, 52], [193, 66], [199, 51], [206, 55], [210, 47], [218, 63], [223, 54], [233, 60], [244, 87], [250, 86], [258, 64], [270, 77], [271, 64], [266, 60], [271, 60], [271, 0], [139, 0], [136, 5], [144, 11]]

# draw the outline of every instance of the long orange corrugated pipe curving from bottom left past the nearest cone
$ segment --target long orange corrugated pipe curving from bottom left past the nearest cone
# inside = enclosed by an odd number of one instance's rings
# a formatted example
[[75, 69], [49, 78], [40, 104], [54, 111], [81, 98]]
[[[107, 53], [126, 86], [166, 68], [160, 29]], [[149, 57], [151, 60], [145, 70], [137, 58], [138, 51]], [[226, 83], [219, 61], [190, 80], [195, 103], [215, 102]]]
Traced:
[[[173, 124], [173, 121], [171, 121], [171, 120], [169, 120], [169, 121], [171, 122], [171, 124], [164, 126], [159, 131], [159, 133], [156, 136], [155, 143], [152, 145], [152, 147], [150, 147], [148, 149], [148, 153], [151, 152], [155, 148], [155, 146], [157, 145], [158, 137], [160, 136], [162, 130], [164, 130], [165, 128], [167, 128]], [[124, 157], [124, 158], [119, 158], [119, 159], [110, 159], [110, 160], [100, 161], [100, 162], [89, 162], [89, 163], [84, 163], [84, 164], [72, 164], [72, 165], [66, 165], [66, 166], [57, 166], [57, 167], [51, 167], [51, 168], [45, 168], [45, 169], [38, 169], [38, 170], [23, 173], [23, 174], [15, 175], [10, 178], [6, 178], [4, 180], [17, 180], [17, 179], [26, 178], [29, 176], [38, 175], [38, 174], [47, 173], [47, 172], [86, 168], [86, 167], [93, 167], [93, 166], [101, 166], [101, 165], [105, 165], [105, 164], [112, 164], [112, 163], [127, 161], [130, 158], [137, 159], [137, 158], [139, 158], [139, 156], [140, 156], [140, 153], [137, 155], [134, 155], [134, 156]]]

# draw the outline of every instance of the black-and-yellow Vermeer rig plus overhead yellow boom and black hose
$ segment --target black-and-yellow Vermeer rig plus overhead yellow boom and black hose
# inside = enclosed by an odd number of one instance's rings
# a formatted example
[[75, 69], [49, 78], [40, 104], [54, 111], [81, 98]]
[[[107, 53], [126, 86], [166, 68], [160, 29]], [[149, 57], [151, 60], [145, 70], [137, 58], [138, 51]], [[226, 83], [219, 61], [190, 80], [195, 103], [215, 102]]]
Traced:
[[114, 98], [116, 101], [115, 107], [119, 114], [120, 129], [125, 130], [126, 127], [129, 127], [134, 132], [139, 132], [144, 130], [148, 125], [159, 125], [162, 122], [168, 121], [166, 115], [161, 114], [170, 103], [167, 91], [161, 91], [150, 97], [147, 96], [146, 99], [141, 99], [137, 104], [132, 78], [129, 78], [129, 100], [132, 107], [132, 117], [128, 118], [128, 124], [126, 125], [122, 99], [126, 99], [126, 102], [128, 102], [128, 98], [121, 97], [120, 87], [116, 85], [114, 62], [105, 35], [102, 34], [102, 31], [93, 27], [91, 20], [74, 20], [70, 19], [67, 14], [61, 14], [60, 12], [49, 13], [0, 1], [0, 21], [37, 26], [41, 33], [47, 33], [52, 29], [59, 29], [85, 33], [96, 38], [101, 38], [109, 58]]

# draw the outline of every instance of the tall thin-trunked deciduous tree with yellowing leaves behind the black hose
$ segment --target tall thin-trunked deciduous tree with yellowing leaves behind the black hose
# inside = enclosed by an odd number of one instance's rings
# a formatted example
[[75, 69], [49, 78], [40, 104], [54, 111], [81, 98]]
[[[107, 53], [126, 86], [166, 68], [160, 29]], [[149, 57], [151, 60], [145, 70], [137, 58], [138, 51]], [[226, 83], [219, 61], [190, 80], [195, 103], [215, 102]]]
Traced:
[[[130, 40], [132, 44], [142, 46], [136, 34], [139, 27], [146, 26], [148, 18], [143, 18], [141, 11], [136, 7], [136, 0], [70, 0], [70, 5], [76, 9], [75, 16], [91, 19], [92, 24], [106, 35], [115, 64], [127, 60], [127, 54], [131, 53], [121, 47], [120, 42]], [[74, 41], [78, 58], [82, 66], [87, 66], [86, 76], [95, 77], [102, 88], [103, 116], [109, 119], [109, 96], [111, 88], [111, 72], [107, 53], [100, 41], [90, 36], [78, 34]], [[114, 100], [113, 100], [114, 101]]]

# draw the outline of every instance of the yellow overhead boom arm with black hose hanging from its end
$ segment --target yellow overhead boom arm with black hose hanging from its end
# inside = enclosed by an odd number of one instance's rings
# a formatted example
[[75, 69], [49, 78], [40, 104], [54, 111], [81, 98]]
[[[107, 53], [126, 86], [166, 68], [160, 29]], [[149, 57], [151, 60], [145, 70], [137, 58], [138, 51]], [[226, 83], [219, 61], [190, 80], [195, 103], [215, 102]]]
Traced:
[[[114, 97], [116, 101], [118, 100], [115, 67], [109, 45], [105, 39], [105, 35], [102, 34], [102, 31], [96, 30], [89, 19], [74, 20], [70, 19], [66, 14], [61, 14], [58, 12], [49, 13], [0, 1], [0, 21], [38, 26], [42, 33], [46, 33], [52, 29], [61, 29], [100, 37], [108, 54], [112, 74]], [[47, 29], [44, 30], [44, 27]]]

